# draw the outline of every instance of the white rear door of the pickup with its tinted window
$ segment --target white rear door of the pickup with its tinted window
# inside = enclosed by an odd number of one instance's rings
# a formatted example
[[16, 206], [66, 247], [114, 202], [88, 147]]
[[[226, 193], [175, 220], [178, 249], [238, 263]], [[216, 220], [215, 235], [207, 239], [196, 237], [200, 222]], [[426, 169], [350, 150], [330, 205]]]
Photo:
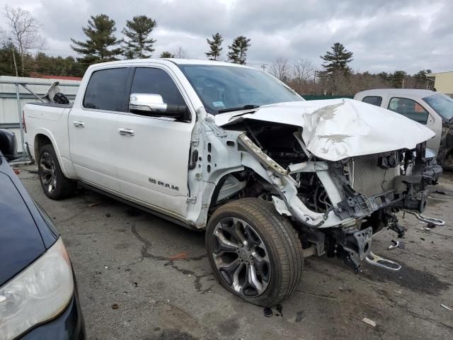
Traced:
[[69, 113], [69, 153], [77, 176], [95, 186], [117, 191], [116, 120], [127, 111], [125, 89], [132, 68], [98, 69], [91, 74], [84, 98]]

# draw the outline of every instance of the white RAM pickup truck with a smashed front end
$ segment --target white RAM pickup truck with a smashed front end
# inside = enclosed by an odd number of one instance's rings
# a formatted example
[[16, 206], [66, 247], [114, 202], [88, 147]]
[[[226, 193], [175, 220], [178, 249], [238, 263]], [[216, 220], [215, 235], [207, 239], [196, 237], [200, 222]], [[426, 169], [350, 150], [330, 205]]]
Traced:
[[304, 256], [392, 268], [372, 236], [419, 212], [441, 169], [434, 133], [352, 99], [304, 101], [265, 72], [201, 60], [88, 68], [73, 104], [30, 103], [26, 145], [45, 194], [76, 182], [205, 229], [220, 283], [256, 305], [297, 287]]

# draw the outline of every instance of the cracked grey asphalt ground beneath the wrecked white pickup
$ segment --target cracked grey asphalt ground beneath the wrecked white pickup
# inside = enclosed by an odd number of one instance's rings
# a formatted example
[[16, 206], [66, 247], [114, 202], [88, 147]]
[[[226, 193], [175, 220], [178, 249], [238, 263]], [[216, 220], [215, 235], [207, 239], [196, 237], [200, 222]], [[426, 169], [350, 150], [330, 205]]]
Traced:
[[[453, 174], [434, 188], [445, 194], [432, 193], [426, 211], [445, 219], [445, 227], [421, 230], [406, 216], [406, 249], [386, 250], [395, 238], [391, 232], [374, 239], [374, 252], [401, 263], [401, 271], [365, 265], [355, 275], [338, 260], [306, 259], [297, 291], [282, 313], [274, 310], [266, 318], [262, 308], [217, 284], [202, 233], [91, 191], [49, 200], [33, 166], [26, 169], [20, 178], [69, 249], [90, 339], [453, 337], [453, 312], [441, 306], [453, 308]], [[362, 322], [364, 317], [377, 326]]]

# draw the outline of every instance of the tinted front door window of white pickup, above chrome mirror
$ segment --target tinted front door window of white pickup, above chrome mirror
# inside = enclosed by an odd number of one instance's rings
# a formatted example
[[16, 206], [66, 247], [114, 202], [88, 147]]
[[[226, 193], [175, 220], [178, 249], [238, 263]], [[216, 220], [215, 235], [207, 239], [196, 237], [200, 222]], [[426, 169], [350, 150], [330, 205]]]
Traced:
[[185, 105], [178, 87], [163, 69], [137, 67], [131, 94], [160, 94], [168, 105]]

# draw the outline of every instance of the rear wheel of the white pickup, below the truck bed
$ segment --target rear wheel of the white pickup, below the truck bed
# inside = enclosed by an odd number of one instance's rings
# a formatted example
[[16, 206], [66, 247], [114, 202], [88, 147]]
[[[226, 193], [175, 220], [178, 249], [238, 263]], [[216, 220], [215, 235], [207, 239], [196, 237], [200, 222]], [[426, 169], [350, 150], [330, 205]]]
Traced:
[[64, 176], [55, 149], [50, 144], [43, 145], [40, 149], [38, 174], [42, 190], [48, 198], [61, 200], [74, 195], [77, 183]]

